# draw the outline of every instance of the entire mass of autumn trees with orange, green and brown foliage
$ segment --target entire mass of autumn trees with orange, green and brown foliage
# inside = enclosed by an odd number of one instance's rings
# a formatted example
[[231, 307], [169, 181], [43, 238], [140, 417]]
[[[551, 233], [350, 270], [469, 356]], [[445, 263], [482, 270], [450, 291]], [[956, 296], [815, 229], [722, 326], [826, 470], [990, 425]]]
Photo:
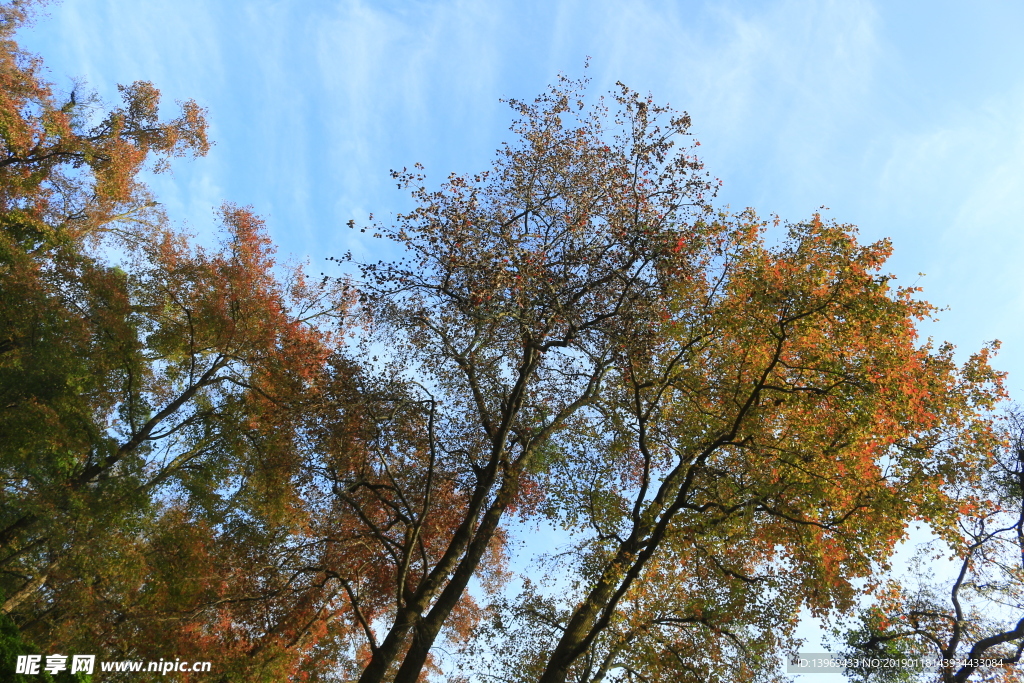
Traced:
[[[888, 242], [717, 207], [688, 116], [562, 77], [509, 101], [493, 168], [394, 173], [416, 208], [368, 228], [398, 258], [313, 279], [250, 209], [214, 247], [175, 229], [140, 173], [203, 156], [206, 113], [56, 91], [28, 6], [0, 6], [4, 656], [767, 681], [801, 610], [866, 585], [851, 652], [1010, 680], [1019, 422], [994, 346], [918, 337]], [[961, 562], [949, 605], [888, 574], [915, 520]], [[510, 568], [531, 525], [569, 539], [558, 581]]]

